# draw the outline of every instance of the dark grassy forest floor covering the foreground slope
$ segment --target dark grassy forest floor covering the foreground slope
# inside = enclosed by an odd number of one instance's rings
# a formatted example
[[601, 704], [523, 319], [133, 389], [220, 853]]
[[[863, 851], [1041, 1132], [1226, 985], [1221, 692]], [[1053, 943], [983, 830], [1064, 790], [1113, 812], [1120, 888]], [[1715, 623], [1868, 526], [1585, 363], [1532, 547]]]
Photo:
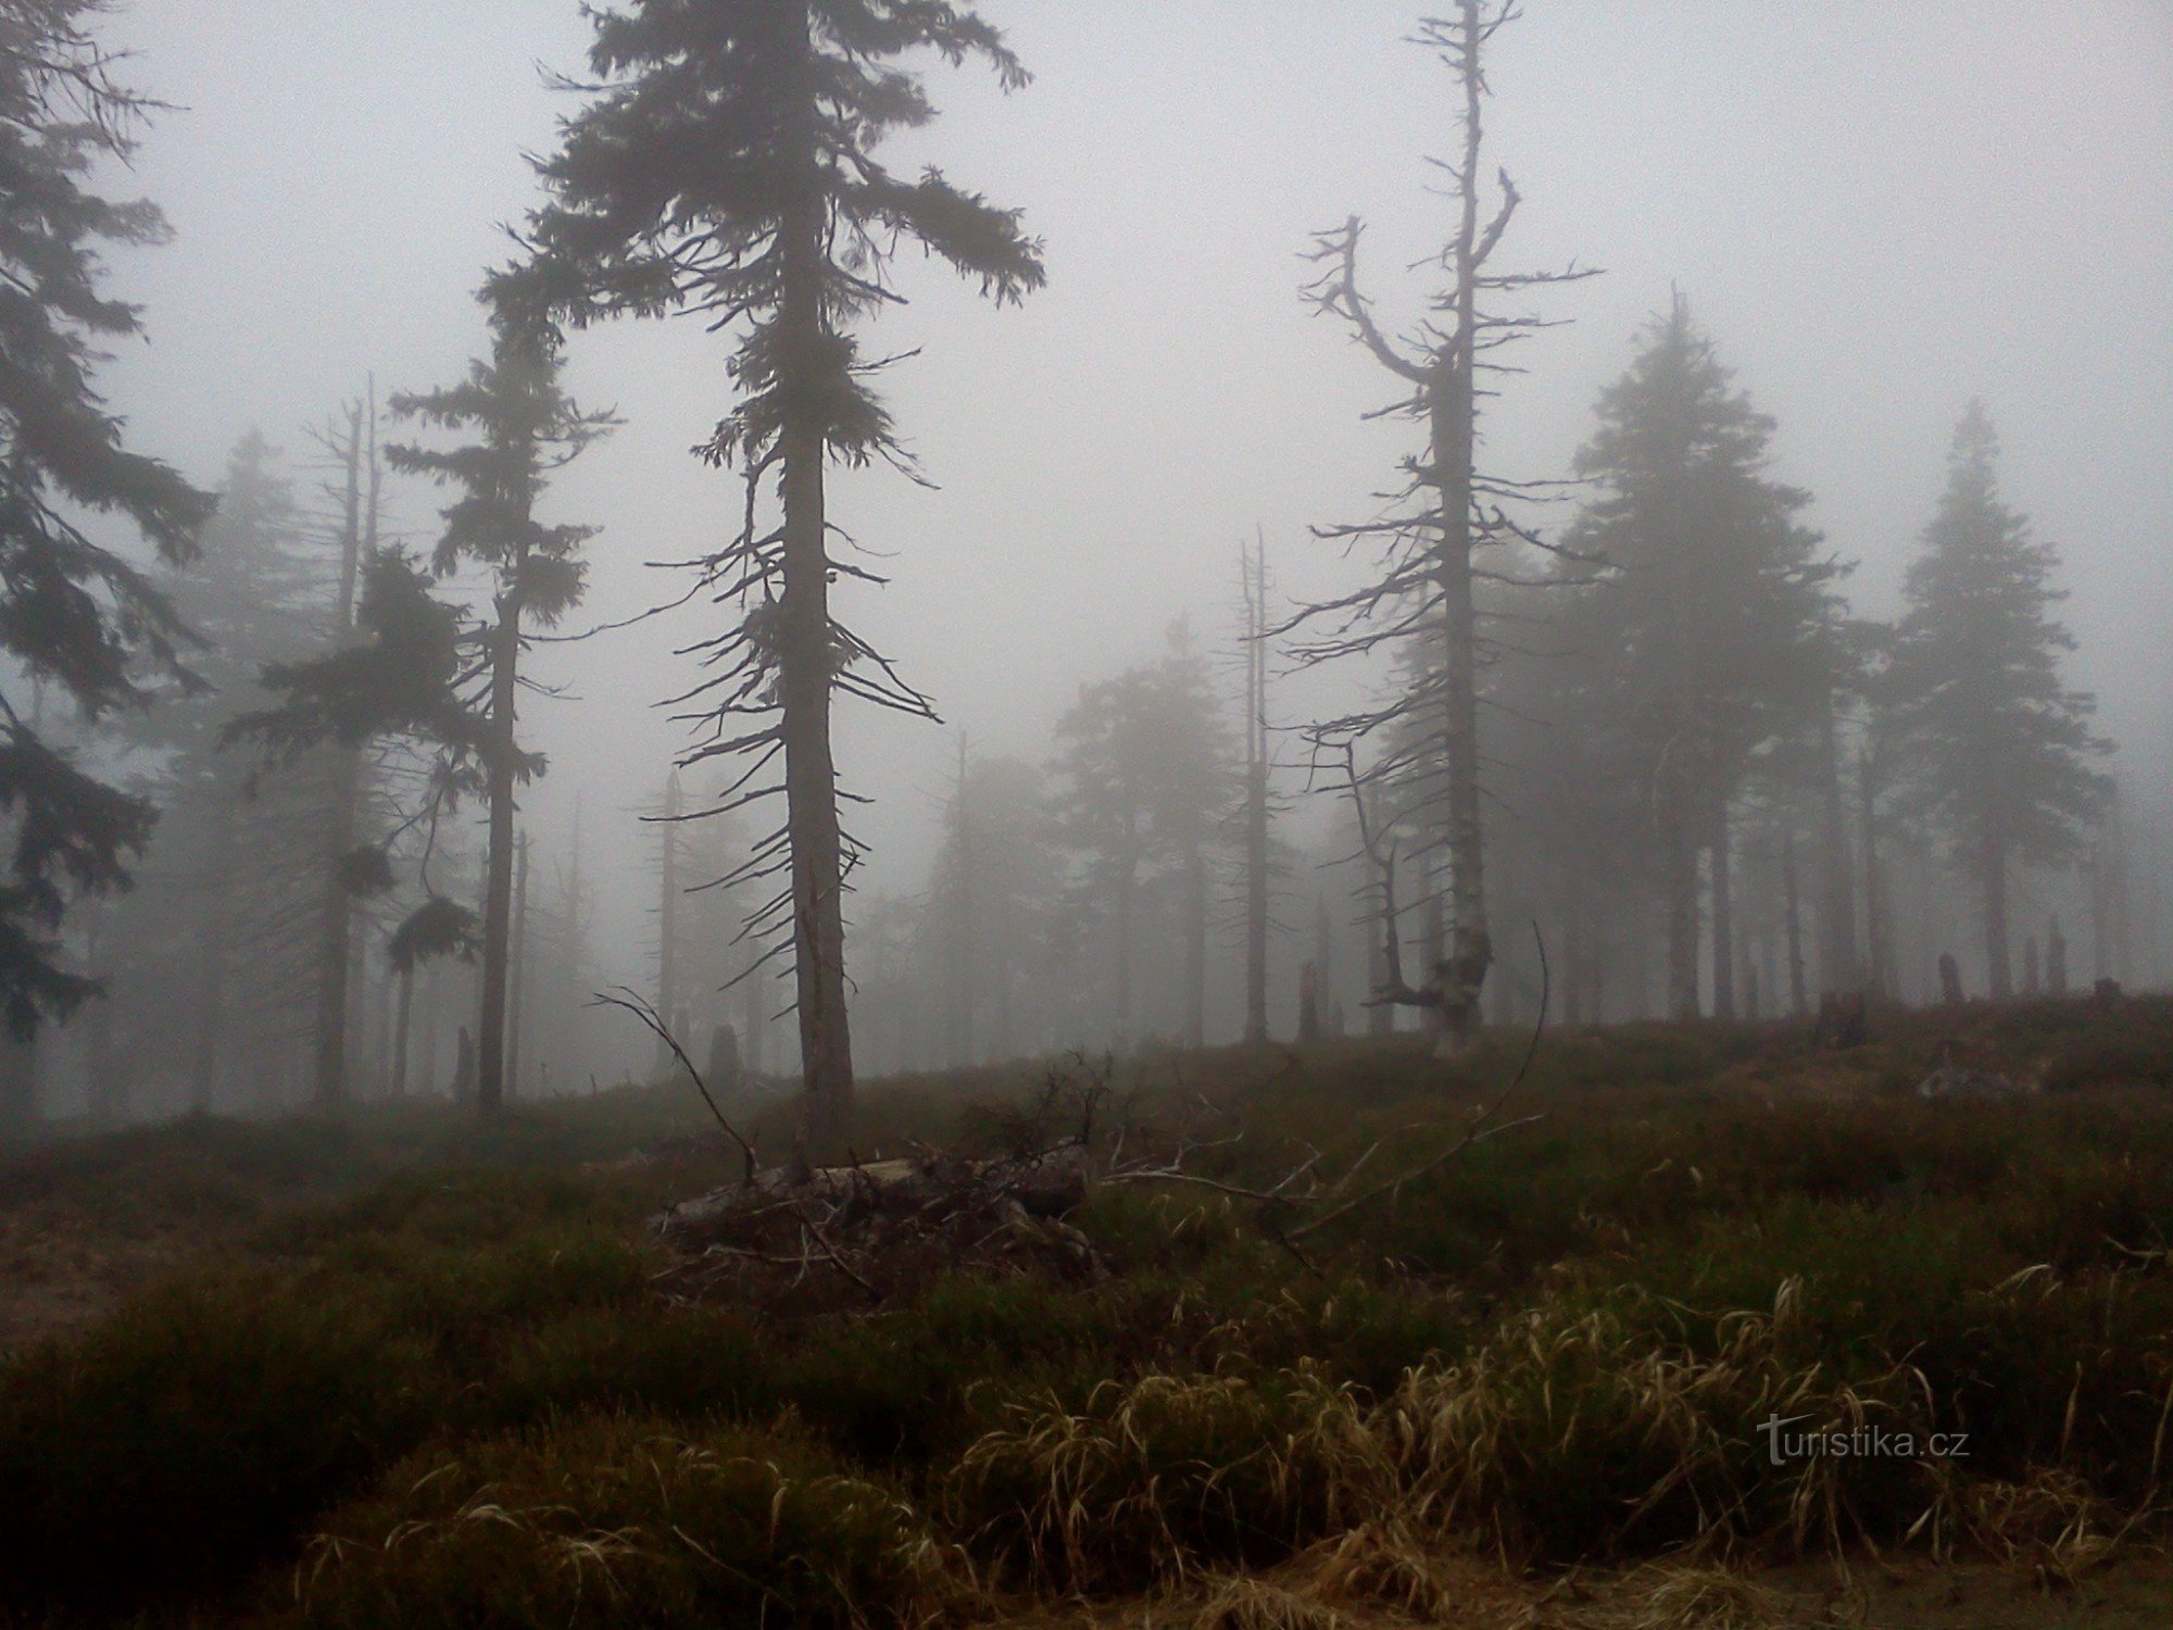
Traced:
[[743, 1176], [674, 1082], [61, 1128], [0, 1623], [2173, 1621], [2173, 1000], [1806, 1030], [876, 1082], [869, 1165], [1097, 1174], [895, 1278], [858, 1191], [658, 1234]]

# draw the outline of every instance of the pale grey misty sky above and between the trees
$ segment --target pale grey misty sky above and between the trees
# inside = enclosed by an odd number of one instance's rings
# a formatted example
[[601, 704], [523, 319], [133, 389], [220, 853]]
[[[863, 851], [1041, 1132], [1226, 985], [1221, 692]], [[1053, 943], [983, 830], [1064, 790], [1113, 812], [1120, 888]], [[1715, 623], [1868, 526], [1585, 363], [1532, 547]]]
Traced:
[[[1362, 424], [1395, 391], [1297, 298], [1308, 235], [1371, 222], [1384, 315], [1430, 289], [1428, 152], [1449, 146], [1447, 74], [1378, 0], [989, 0], [1037, 74], [1004, 98], [934, 78], [945, 117], [891, 154], [1026, 211], [1050, 287], [993, 311], [939, 267], [871, 350], [921, 354], [887, 380], [926, 474], [839, 485], [832, 513], [895, 582], [845, 613], [976, 743], [1047, 754], [1086, 678], [1152, 656], [1191, 609], [1232, 624], [1236, 541], [1265, 526], [1295, 593], [1354, 578], [1306, 541], [1358, 519], [1410, 446]], [[150, 343], [106, 374], [135, 439], [215, 482], [252, 424], [300, 463], [374, 369], [385, 389], [452, 378], [482, 346], [472, 289], [535, 200], [524, 150], [574, 102], [571, 0], [135, 0], [111, 35], [135, 78], [183, 104], [137, 180], [174, 246], [117, 287]], [[1530, 0], [1493, 65], [1493, 156], [1525, 206], [1504, 263], [1606, 276], [1552, 296], [1575, 326], [1525, 348], [1489, 422], [1489, 463], [1562, 474], [1595, 391], [1680, 285], [1754, 402], [1780, 474], [1860, 559], [1860, 609], [1891, 613], [1971, 393], [1993, 409], [2006, 491], [2058, 541], [2123, 765], [2164, 795], [2173, 763], [2173, 4], [2166, 0]], [[726, 411], [726, 341], [698, 324], [582, 335], [571, 380], [628, 426], [569, 474], [554, 519], [606, 526], [591, 617], [676, 593], [643, 561], [719, 541], [737, 487], [687, 456]], [[417, 543], [435, 498], [398, 487]], [[669, 654], [721, 613], [687, 609], [556, 648], [535, 704], [552, 754], [532, 824], [563, 835], [587, 789], [591, 865], [617, 867], [606, 961], [641, 980], [648, 885], [632, 806], [684, 741], [652, 702]], [[578, 617], [576, 622], [587, 622]], [[1299, 709], [1302, 691], [1286, 693]], [[850, 711], [847, 780], [876, 882], [915, 887], [947, 739]], [[606, 969], [608, 971], [608, 969]]]

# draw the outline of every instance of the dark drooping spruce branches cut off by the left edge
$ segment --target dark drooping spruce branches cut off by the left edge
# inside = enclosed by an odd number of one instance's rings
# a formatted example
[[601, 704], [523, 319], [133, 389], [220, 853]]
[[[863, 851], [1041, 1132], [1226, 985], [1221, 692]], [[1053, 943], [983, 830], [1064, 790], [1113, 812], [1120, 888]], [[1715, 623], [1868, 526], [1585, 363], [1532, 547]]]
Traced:
[[[0, 0], [0, 650], [9, 691], [54, 687], [83, 719], [189, 682], [178, 617], [102, 541], [104, 517], [183, 563], [213, 509], [124, 446], [91, 383], [104, 346], [143, 333], [139, 309], [102, 289], [102, 250], [167, 237], [156, 206], [89, 187], [128, 159], [150, 106], [115, 80], [91, 33], [100, 11]], [[28, 1039], [100, 989], [63, 965], [61, 919], [74, 895], [126, 887], [154, 811], [87, 774], [22, 691], [0, 691], [0, 1017]]]

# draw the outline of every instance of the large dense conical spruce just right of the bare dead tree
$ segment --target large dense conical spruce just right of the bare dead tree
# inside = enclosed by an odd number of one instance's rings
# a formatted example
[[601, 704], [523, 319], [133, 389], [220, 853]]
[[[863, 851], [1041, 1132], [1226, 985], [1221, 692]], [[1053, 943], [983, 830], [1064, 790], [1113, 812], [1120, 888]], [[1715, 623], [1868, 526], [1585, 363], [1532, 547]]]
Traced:
[[1730, 804], [1751, 754], [1801, 730], [1832, 685], [1838, 567], [1797, 522], [1810, 496], [1767, 476], [1771, 439], [1678, 293], [1578, 454], [1597, 491], [1571, 541], [1606, 561], [1584, 606], [1606, 663], [1588, 724], [1615, 737], [1649, 811], [1673, 1017], [1699, 1011], [1697, 856], [1712, 856], [1725, 1008]]

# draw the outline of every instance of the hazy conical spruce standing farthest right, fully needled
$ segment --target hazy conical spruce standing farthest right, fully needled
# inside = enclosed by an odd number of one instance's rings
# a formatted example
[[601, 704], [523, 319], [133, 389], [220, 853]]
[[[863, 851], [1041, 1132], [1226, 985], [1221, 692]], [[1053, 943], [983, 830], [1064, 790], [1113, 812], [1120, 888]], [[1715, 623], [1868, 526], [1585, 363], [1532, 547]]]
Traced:
[[2008, 869], [2071, 858], [2110, 782], [2090, 758], [2095, 698], [2062, 682], [2073, 637], [2051, 615], [2058, 552], [1999, 496], [1999, 439], [1982, 402], [1954, 432], [1947, 491], [1908, 574], [1888, 674], [1908, 791], [1980, 889], [1995, 1000], [2014, 989]]

